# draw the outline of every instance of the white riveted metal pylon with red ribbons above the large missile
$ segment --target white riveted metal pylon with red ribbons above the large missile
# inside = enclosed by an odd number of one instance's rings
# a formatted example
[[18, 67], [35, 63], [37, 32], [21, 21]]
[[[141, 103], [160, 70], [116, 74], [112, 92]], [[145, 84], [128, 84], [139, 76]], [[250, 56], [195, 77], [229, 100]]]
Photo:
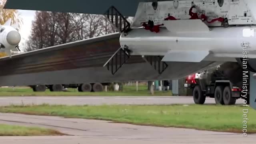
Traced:
[[[193, 31], [193, 29], [196, 31], [208, 31], [207, 26], [224, 26], [225, 22], [227, 22], [227, 26], [256, 24], [255, 0], [224, 0], [223, 6], [215, 4], [216, 1], [178, 0], [178, 5], [176, 5], [174, 0], [159, 0], [156, 10], [152, 6], [152, 1], [140, 2], [132, 26], [140, 27], [141, 23], [148, 20], [154, 20], [154, 25], [163, 24], [163, 20], [170, 18], [169, 16], [175, 19], [170, 22], [172, 25], [170, 29], [174, 31], [177, 26], [183, 27], [183, 29], [177, 28], [178, 30], [189, 32]], [[199, 23], [195, 22], [197, 20], [194, 20], [193, 23], [190, 18], [200, 18], [207, 26], [200, 20], [198, 20]], [[182, 20], [182, 23], [179, 22], [180, 20]], [[186, 23], [186, 20], [190, 21], [190, 23]], [[164, 25], [169, 24], [165, 23]]]

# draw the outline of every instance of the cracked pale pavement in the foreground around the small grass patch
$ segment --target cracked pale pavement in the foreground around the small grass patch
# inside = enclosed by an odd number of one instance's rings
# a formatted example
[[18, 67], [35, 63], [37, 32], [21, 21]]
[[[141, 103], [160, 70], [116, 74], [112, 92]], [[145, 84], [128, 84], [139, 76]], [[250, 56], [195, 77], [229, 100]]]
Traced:
[[115, 124], [52, 116], [2, 114], [0, 123], [53, 128], [72, 136], [0, 137], [3, 144], [255, 144], [256, 135]]

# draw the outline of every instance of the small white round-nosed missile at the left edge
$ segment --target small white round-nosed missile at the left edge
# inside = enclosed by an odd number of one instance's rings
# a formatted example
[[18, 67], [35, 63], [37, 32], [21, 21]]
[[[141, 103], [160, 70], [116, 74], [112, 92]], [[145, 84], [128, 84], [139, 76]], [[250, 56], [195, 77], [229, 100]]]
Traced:
[[18, 23], [11, 25], [11, 20], [9, 19], [4, 25], [0, 26], [0, 51], [6, 52], [6, 54], [11, 58], [11, 52], [17, 52], [18, 44], [20, 43], [21, 36], [18, 32]]

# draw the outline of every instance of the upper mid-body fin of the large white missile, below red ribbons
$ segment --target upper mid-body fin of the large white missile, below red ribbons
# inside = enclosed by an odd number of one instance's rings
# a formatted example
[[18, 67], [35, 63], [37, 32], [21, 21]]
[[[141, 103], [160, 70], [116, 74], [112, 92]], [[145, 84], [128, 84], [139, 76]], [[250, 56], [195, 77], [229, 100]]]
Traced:
[[209, 27], [200, 19], [164, 20], [164, 26], [170, 32], [209, 32]]

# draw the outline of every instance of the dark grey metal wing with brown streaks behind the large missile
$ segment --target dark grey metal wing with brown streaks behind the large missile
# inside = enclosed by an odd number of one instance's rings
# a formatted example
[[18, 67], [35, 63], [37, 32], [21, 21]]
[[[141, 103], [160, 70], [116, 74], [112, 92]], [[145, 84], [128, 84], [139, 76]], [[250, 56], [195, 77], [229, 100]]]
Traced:
[[222, 64], [166, 62], [162, 74], [141, 56], [131, 56], [113, 76], [103, 65], [120, 48], [120, 34], [109, 34], [0, 58], [0, 86], [172, 80]]

